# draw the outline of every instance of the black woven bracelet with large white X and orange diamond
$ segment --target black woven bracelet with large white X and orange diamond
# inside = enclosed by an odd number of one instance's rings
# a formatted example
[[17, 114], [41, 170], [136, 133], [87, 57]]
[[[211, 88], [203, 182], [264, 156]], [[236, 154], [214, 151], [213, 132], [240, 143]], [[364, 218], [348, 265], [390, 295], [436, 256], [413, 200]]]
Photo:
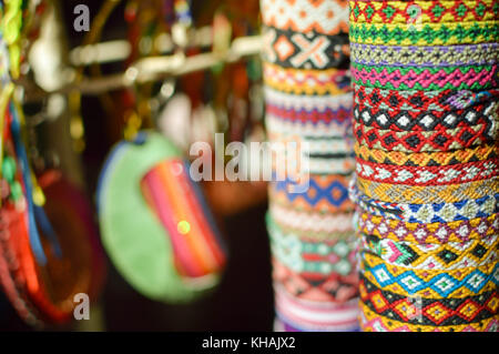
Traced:
[[263, 59], [283, 68], [347, 69], [348, 34], [326, 36], [315, 32], [263, 29]]

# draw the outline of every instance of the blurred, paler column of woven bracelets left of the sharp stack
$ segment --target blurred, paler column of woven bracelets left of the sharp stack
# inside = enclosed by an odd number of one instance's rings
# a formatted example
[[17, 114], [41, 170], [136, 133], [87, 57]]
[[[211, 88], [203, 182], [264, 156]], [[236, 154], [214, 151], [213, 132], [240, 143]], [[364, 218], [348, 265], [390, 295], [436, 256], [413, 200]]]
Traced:
[[268, 139], [309, 153], [306, 190], [289, 171], [269, 186], [275, 330], [358, 331], [348, 3], [262, 0], [262, 16]]

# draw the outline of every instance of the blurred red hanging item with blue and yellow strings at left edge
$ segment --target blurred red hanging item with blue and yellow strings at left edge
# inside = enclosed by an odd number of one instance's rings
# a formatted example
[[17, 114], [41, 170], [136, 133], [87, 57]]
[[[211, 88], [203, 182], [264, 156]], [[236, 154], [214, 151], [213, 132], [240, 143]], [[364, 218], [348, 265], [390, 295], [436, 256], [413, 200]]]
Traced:
[[[96, 249], [91, 241], [80, 236], [84, 229], [77, 225], [71, 232], [61, 224], [74, 225], [71, 221], [73, 208], [61, 208], [53, 213], [55, 199], [53, 189], [47, 183], [41, 186], [31, 168], [29, 145], [26, 134], [26, 121], [22, 107], [18, 102], [11, 78], [19, 75], [21, 60], [13, 47], [29, 37], [27, 21], [30, 10], [38, 9], [31, 2], [18, 7], [19, 2], [7, 2], [6, 13], [1, 19], [0, 36], [4, 30], [10, 40], [0, 37], [0, 60], [2, 92], [0, 95], [1, 121], [1, 210], [0, 210], [0, 281], [19, 315], [33, 326], [43, 324], [63, 324], [72, 318], [75, 306], [73, 297], [78, 293], [90, 293], [93, 289], [95, 266], [99, 262]], [[12, 6], [12, 8], [9, 8]], [[26, 20], [22, 23], [12, 11], [23, 9]], [[21, 20], [24, 18], [21, 17]], [[21, 33], [22, 29], [22, 36]], [[18, 36], [13, 32], [18, 31]], [[8, 45], [9, 44], [9, 45]], [[21, 52], [20, 52], [21, 53]], [[30, 138], [31, 139], [31, 138]], [[45, 198], [45, 190], [49, 199]], [[65, 191], [68, 198], [70, 191]], [[74, 199], [77, 200], [77, 199]], [[51, 214], [48, 215], [47, 211]], [[63, 223], [53, 224], [61, 215]], [[61, 220], [61, 219], [59, 219]]]

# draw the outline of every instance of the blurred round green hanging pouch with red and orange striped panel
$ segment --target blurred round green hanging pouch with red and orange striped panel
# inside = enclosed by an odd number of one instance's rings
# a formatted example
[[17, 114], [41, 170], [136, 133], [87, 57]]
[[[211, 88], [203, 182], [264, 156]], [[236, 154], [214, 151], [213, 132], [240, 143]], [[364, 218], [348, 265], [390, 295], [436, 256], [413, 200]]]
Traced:
[[[163, 3], [166, 9], [175, 6]], [[174, 17], [167, 11], [163, 16], [187, 24], [186, 17], [175, 12], [184, 8], [176, 6]], [[139, 12], [130, 19], [141, 19]], [[140, 97], [135, 104], [141, 104]], [[142, 119], [140, 108], [135, 114]], [[102, 170], [98, 201], [104, 247], [141, 294], [187, 303], [220, 283], [227, 256], [224, 242], [191, 180], [189, 162], [164, 135], [141, 130], [116, 144]]]

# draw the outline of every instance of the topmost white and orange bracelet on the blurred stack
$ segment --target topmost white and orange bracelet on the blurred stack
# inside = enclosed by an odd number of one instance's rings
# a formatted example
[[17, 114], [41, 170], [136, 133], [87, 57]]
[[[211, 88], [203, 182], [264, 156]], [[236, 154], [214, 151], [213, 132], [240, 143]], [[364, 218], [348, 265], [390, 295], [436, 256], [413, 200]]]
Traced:
[[281, 30], [322, 34], [348, 33], [348, 3], [346, 1], [261, 0], [264, 24]]

